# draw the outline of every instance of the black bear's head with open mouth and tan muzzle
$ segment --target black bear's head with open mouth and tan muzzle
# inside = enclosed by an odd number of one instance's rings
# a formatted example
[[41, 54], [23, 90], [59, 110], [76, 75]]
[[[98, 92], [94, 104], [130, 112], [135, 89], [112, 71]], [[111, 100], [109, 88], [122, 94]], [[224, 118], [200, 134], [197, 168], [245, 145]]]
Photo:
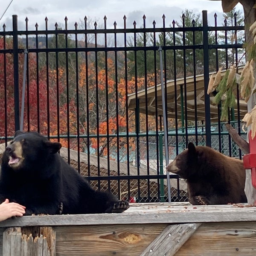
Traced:
[[16, 131], [14, 139], [6, 147], [3, 161], [15, 171], [40, 166], [49, 157], [57, 153], [61, 143], [49, 142], [37, 132]]

